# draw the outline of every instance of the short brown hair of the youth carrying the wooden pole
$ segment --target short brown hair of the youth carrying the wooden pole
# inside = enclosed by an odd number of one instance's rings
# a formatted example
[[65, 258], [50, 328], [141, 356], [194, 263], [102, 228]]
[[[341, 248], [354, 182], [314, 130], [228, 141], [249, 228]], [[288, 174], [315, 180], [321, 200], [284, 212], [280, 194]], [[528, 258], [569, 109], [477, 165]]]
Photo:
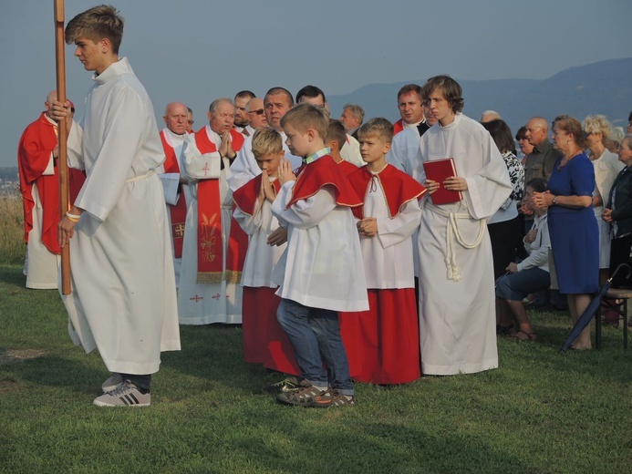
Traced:
[[125, 19], [114, 6], [93, 6], [68, 22], [65, 33], [66, 43], [71, 45], [82, 37], [88, 38], [93, 43], [108, 38], [112, 53], [118, 55], [120, 41], [123, 39], [123, 26], [125, 26]]

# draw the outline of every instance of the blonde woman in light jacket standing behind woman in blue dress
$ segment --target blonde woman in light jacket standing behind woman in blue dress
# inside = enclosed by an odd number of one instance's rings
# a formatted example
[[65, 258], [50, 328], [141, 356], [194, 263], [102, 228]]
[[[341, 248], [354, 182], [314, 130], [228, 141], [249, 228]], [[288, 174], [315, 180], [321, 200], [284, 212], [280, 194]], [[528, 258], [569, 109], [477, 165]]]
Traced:
[[616, 154], [608, 151], [604, 145], [612, 132], [610, 122], [603, 115], [589, 115], [582, 121], [585, 140], [590, 155], [588, 158], [595, 167], [595, 191], [593, 191], [593, 211], [599, 226], [599, 283], [606, 283], [610, 267], [610, 224], [600, 219], [604, 204], [610, 195], [610, 188], [616, 175], [623, 170], [624, 164]]

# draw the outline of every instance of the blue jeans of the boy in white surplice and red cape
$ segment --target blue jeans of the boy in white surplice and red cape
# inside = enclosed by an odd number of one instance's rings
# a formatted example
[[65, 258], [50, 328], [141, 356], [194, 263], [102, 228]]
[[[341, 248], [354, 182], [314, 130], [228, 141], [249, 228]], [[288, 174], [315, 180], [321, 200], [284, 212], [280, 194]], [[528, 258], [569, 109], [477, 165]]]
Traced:
[[352, 396], [353, 382], [340, 337], [337, 312], [283, 299], [276, 311], [276, 319], [294, 347], [301, 376], [317, 386], [327, 386], [329, 380], [332, 388]]

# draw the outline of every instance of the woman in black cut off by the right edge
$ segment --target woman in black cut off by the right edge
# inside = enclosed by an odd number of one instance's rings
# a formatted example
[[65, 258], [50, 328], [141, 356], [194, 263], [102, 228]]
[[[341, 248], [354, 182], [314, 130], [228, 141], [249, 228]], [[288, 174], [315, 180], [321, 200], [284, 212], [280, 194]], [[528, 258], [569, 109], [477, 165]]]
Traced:
[[[625, 168], [616, 176], [602, 218], [611, 227], [610, 273], [619, 263], [628, 263], [632, 247], [632, 135], [626, 135], [619, 147], [619, 160]], [[613, 286], [625, 283], [619, 275]]]

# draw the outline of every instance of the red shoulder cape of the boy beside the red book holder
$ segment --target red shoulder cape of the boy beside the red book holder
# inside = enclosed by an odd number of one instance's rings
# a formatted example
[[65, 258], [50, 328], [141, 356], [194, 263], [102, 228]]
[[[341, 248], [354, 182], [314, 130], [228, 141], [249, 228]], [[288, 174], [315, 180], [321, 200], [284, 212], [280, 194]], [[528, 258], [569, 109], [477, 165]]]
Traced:
[[[373, 176], [368, 168], [363, 166], [348, 177], [353, 189], [356, 190], [359, 196], [362, 196], [363, 202]], [[391, 219], [399, 214], [399, 211], [407, 202], [414, 199], [419, 200], [426, 193], [426, 188], [421, 186], [419, 182], [393, 165], [387, 165], [384, 170], [379, 171], [377, 176], [382, 183]], [[354, 209], [353, 213], [357, 219], [366, 217], [364, 216], [364, 206]]]

